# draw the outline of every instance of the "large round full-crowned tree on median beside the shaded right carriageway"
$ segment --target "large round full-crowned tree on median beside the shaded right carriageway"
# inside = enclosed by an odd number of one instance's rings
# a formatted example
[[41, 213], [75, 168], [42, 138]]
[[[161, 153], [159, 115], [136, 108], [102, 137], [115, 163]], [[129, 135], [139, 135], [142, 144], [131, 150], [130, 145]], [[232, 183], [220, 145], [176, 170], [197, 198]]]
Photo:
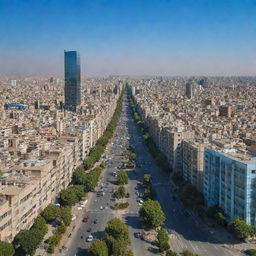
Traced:
[[143, 203], [139, 214], [143, 218], [144, 224], [150, 228], [162, 226], [165, 221], [165, 214], [161, 205], [151, 199]]

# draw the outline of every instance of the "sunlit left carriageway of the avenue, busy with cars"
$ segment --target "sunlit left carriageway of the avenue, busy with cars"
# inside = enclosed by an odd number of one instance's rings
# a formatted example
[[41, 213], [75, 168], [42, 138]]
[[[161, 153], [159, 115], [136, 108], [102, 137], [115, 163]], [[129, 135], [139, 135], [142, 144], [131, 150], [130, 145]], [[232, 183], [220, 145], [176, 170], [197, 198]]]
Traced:
[[[127, 170], [129, 183], [126, 186], [126, 190], [130, 194], [130, 197], [127, 199], [129, 202], [128, 210], [117, 211], [112, 209], [113, 205], [115, 204], [113, 191], [118, 188], [116, 178], [113, 176], [113, 172], [118, 171], [117, 167], [120, 166], [122, 161], [125, 161], [126, 158], [121, 154], [130, 143], [129, 129], [127, 124], [132, 123], [130, 119], [131, 116], [129, 119], [127, 118], [128, 112], [128, 102], [127, 99], [125, 99], [123, 104], [123, 112], [121, 114], [118, 126], [115, 130], [111, 143], [106, 149], [105, 155], [107, 159], [109, 159], [107, 160], [108, 165], [101, 177], [99, 186], [95, 189], [95, 192], [88, 201], [86, 208], [83, 209], [83, 216], [89, 216], [89, 220], [86, 223], [83, 223], [81, 219], [76, 220], [76, 226], [78, 226], [78, 228], [74, 230], [69, 238], [66, 245], [68, 249], [63, 252], [64, 255], [87, 255], [86, 248], [90, 243], [86, 242], [86, 238], [89, 235], [93, 235], [94, 238], [103, 238], [104, 229], [108, 220], [115, 217], [122, 218], [128, 224], [131, 238], [131, 249], [135, 255], [155, 255], [154, 246], [134, 237], [135, 232], [142, 231], [140, 224], [141, 221], [138, 215], [138, 197], [135, 194], [137, 191], [135, 188], [139, 186], [143, 179], [141, 169]], [[103, 187], [104, 195], [97, 196], [97, 191], [99, 191], [101, 187]], [[94, 224], [94, 220], [97, 220], [96, 224]], [[88, 232], [89, 229], [91, 230]]]

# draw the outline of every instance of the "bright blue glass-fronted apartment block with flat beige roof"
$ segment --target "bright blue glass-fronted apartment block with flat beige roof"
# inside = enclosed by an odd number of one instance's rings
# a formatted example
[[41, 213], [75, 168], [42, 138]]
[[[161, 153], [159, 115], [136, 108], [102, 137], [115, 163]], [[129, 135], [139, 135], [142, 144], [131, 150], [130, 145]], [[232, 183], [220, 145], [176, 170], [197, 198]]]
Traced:
[[204, 197], [207, 206], [218, 205], [228, 221], [234, 217], [256, 224], [256, 158], [236, 150], [204, 153]]

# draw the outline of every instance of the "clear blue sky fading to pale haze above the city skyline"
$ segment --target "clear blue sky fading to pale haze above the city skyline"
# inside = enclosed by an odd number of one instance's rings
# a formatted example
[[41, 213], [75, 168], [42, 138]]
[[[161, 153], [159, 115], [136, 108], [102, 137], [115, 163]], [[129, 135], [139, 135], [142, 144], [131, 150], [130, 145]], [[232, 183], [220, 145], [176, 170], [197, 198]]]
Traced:
[[0, 0], [0, 75], [255, 75], [256, 0]]

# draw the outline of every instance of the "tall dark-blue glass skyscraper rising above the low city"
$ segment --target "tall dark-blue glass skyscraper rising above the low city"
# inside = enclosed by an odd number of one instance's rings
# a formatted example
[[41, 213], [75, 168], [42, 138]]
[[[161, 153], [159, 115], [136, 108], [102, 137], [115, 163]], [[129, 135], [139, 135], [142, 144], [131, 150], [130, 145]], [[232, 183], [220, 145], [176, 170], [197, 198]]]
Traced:
[[64, 51], [65, 57], [65, 109], [77, 111], [81, 104], [80, 56], [77, 51]]

